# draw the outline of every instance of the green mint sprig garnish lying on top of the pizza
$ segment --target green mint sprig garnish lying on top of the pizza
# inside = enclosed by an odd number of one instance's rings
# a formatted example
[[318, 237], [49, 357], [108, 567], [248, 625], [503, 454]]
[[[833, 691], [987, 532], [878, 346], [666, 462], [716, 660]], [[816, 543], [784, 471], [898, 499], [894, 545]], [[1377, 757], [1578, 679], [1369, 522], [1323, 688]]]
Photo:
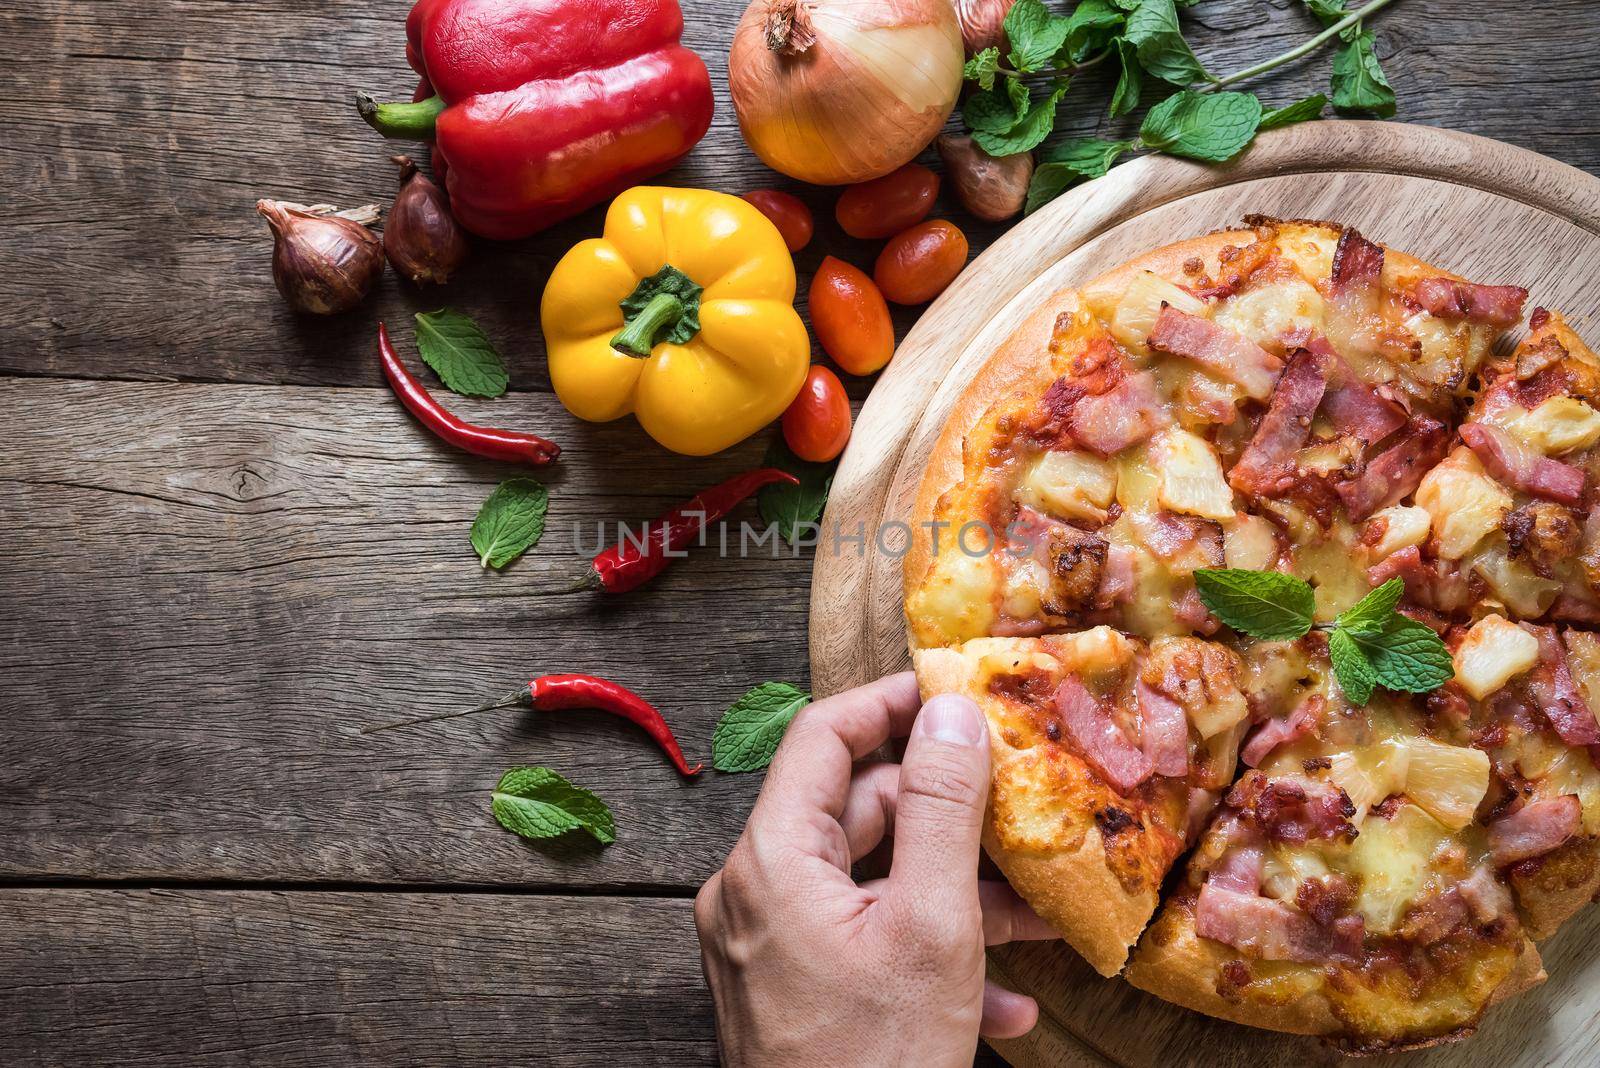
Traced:
[[1253, 638], [1293, 641], [1312, 628], [1328, 632], [1333, 673], [1357, 705], [1371, 700], [1379, 686], [1427, 694], [1454, 675], [1438, 635], [1395, 611], [1405, 593], [1400, 579], [1384, 582], [1331, 625], [1315, 622], [1310, 584], [1278, 571], [1202, 568], [1195, 571], [1195, 587], [1213, 616]]

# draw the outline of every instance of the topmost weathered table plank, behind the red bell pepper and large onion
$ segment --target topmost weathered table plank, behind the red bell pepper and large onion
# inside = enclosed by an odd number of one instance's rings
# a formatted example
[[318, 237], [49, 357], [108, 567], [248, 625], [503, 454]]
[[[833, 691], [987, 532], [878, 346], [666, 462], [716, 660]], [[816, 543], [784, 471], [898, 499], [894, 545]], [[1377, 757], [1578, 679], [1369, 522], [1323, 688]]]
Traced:
[[[258, 197], [387, 201], [392, 147], [349, 99], [355, 88], [410, 90], [408, 6], [194, 0], [173, 19], [160, 0], [43, 0], [0, 11], [14, 56], [0, 72], [0, 373], [371, 385], [371, 323], [454, 302], [504, 342], [517, 389], [546, 390], [530, 329], [538, 293], [555, 257], [595, 232], [598, 211], [482, 248], [438, 294], [390, 275], [378, 299], [333, 323], [296, 321], [269, 285]], [[739, 139], [725, 58], [742, 0], [685, 6], [686, 42], [712, 70], [718, 110], [707, 139], [664, 181], [794, 189], [819, 211], [802, 273], [824, 253], [867, 262], [874, 246], [832, 224], [832, 192], [778, 179]], [[1184, 18], [1218, 70], [1283, 51], [1314, 26], [1288, 0], [1210, 0]], [[1600, 169], [1600, 120], [1587, 106], [1600, 70], [1573, 46], [1592, 37], [1595, 19], [1587, 0], [1544, 0], [1538, 18], [1517, 5], [1400, 3], [1374, 27], [1402, 118]], [[1251, 88], [1272, 102], [1294, 99], [1325, 88], [1328, 62], [1322, 53]], [[1106, 77], [1086, 77], [1067, 98], [1064, 133], [1128, 126], [1104, 118]], [[1002, 232], [970, 229], [974, 249]], [[902, 329], [914, 315], [901, 313]], [[853, 382], [858, 397], [864, 387]]]

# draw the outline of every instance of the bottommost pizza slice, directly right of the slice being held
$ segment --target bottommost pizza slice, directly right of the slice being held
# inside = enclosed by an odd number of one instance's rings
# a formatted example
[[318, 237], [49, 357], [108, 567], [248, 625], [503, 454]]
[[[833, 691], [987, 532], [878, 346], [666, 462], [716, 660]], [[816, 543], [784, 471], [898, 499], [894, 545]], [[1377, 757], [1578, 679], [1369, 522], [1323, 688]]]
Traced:
[[1133, 985], [1387, 1052], [1461, 1038], [1544, 978], [1474, 823], [1483, 751], [1429, 734], [1406, 700], [1352, 710], [1333, 686], [1258, 727], [1246, 753], [1258, 766], [1141, 938]]

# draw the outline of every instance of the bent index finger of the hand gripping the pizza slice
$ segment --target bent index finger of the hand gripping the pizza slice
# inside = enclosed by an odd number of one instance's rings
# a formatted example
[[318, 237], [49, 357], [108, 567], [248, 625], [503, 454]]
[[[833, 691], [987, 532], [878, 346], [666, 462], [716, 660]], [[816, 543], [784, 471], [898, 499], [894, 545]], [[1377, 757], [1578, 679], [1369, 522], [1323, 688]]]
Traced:
[[917, 676], [890, 675], [826, 697], [795, 716], [750, 812], [752, 830], [795, 830], [845, 811], [851, 766], [910, 731], [920, 700]]

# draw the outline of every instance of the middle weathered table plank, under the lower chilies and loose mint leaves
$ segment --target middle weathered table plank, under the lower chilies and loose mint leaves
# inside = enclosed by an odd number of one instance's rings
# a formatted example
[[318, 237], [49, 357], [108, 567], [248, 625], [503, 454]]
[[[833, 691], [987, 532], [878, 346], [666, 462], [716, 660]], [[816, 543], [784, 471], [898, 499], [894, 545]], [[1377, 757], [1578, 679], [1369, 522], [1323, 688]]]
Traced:
[[[549, 395], [458, 408], [558, 424]], [[709, 759], [728, 702], [806, 681], [810, 560], [787, 548], [555, 593], [597, 523], [653, 516], [760, 441], [691, 464], [622, 425], [563, 435], [542, 544], [493, 574], [467, 529], [517, 472], [438, 444], [387, 390], [0, 379], [0, 876], [688, 891], [758, 775], [682, 782], [587, 711], [358, 729], [579, 670], [656, 699]], [[618, 843], [502, 831], [488, 791], [514, 764], [598, 790]]]

